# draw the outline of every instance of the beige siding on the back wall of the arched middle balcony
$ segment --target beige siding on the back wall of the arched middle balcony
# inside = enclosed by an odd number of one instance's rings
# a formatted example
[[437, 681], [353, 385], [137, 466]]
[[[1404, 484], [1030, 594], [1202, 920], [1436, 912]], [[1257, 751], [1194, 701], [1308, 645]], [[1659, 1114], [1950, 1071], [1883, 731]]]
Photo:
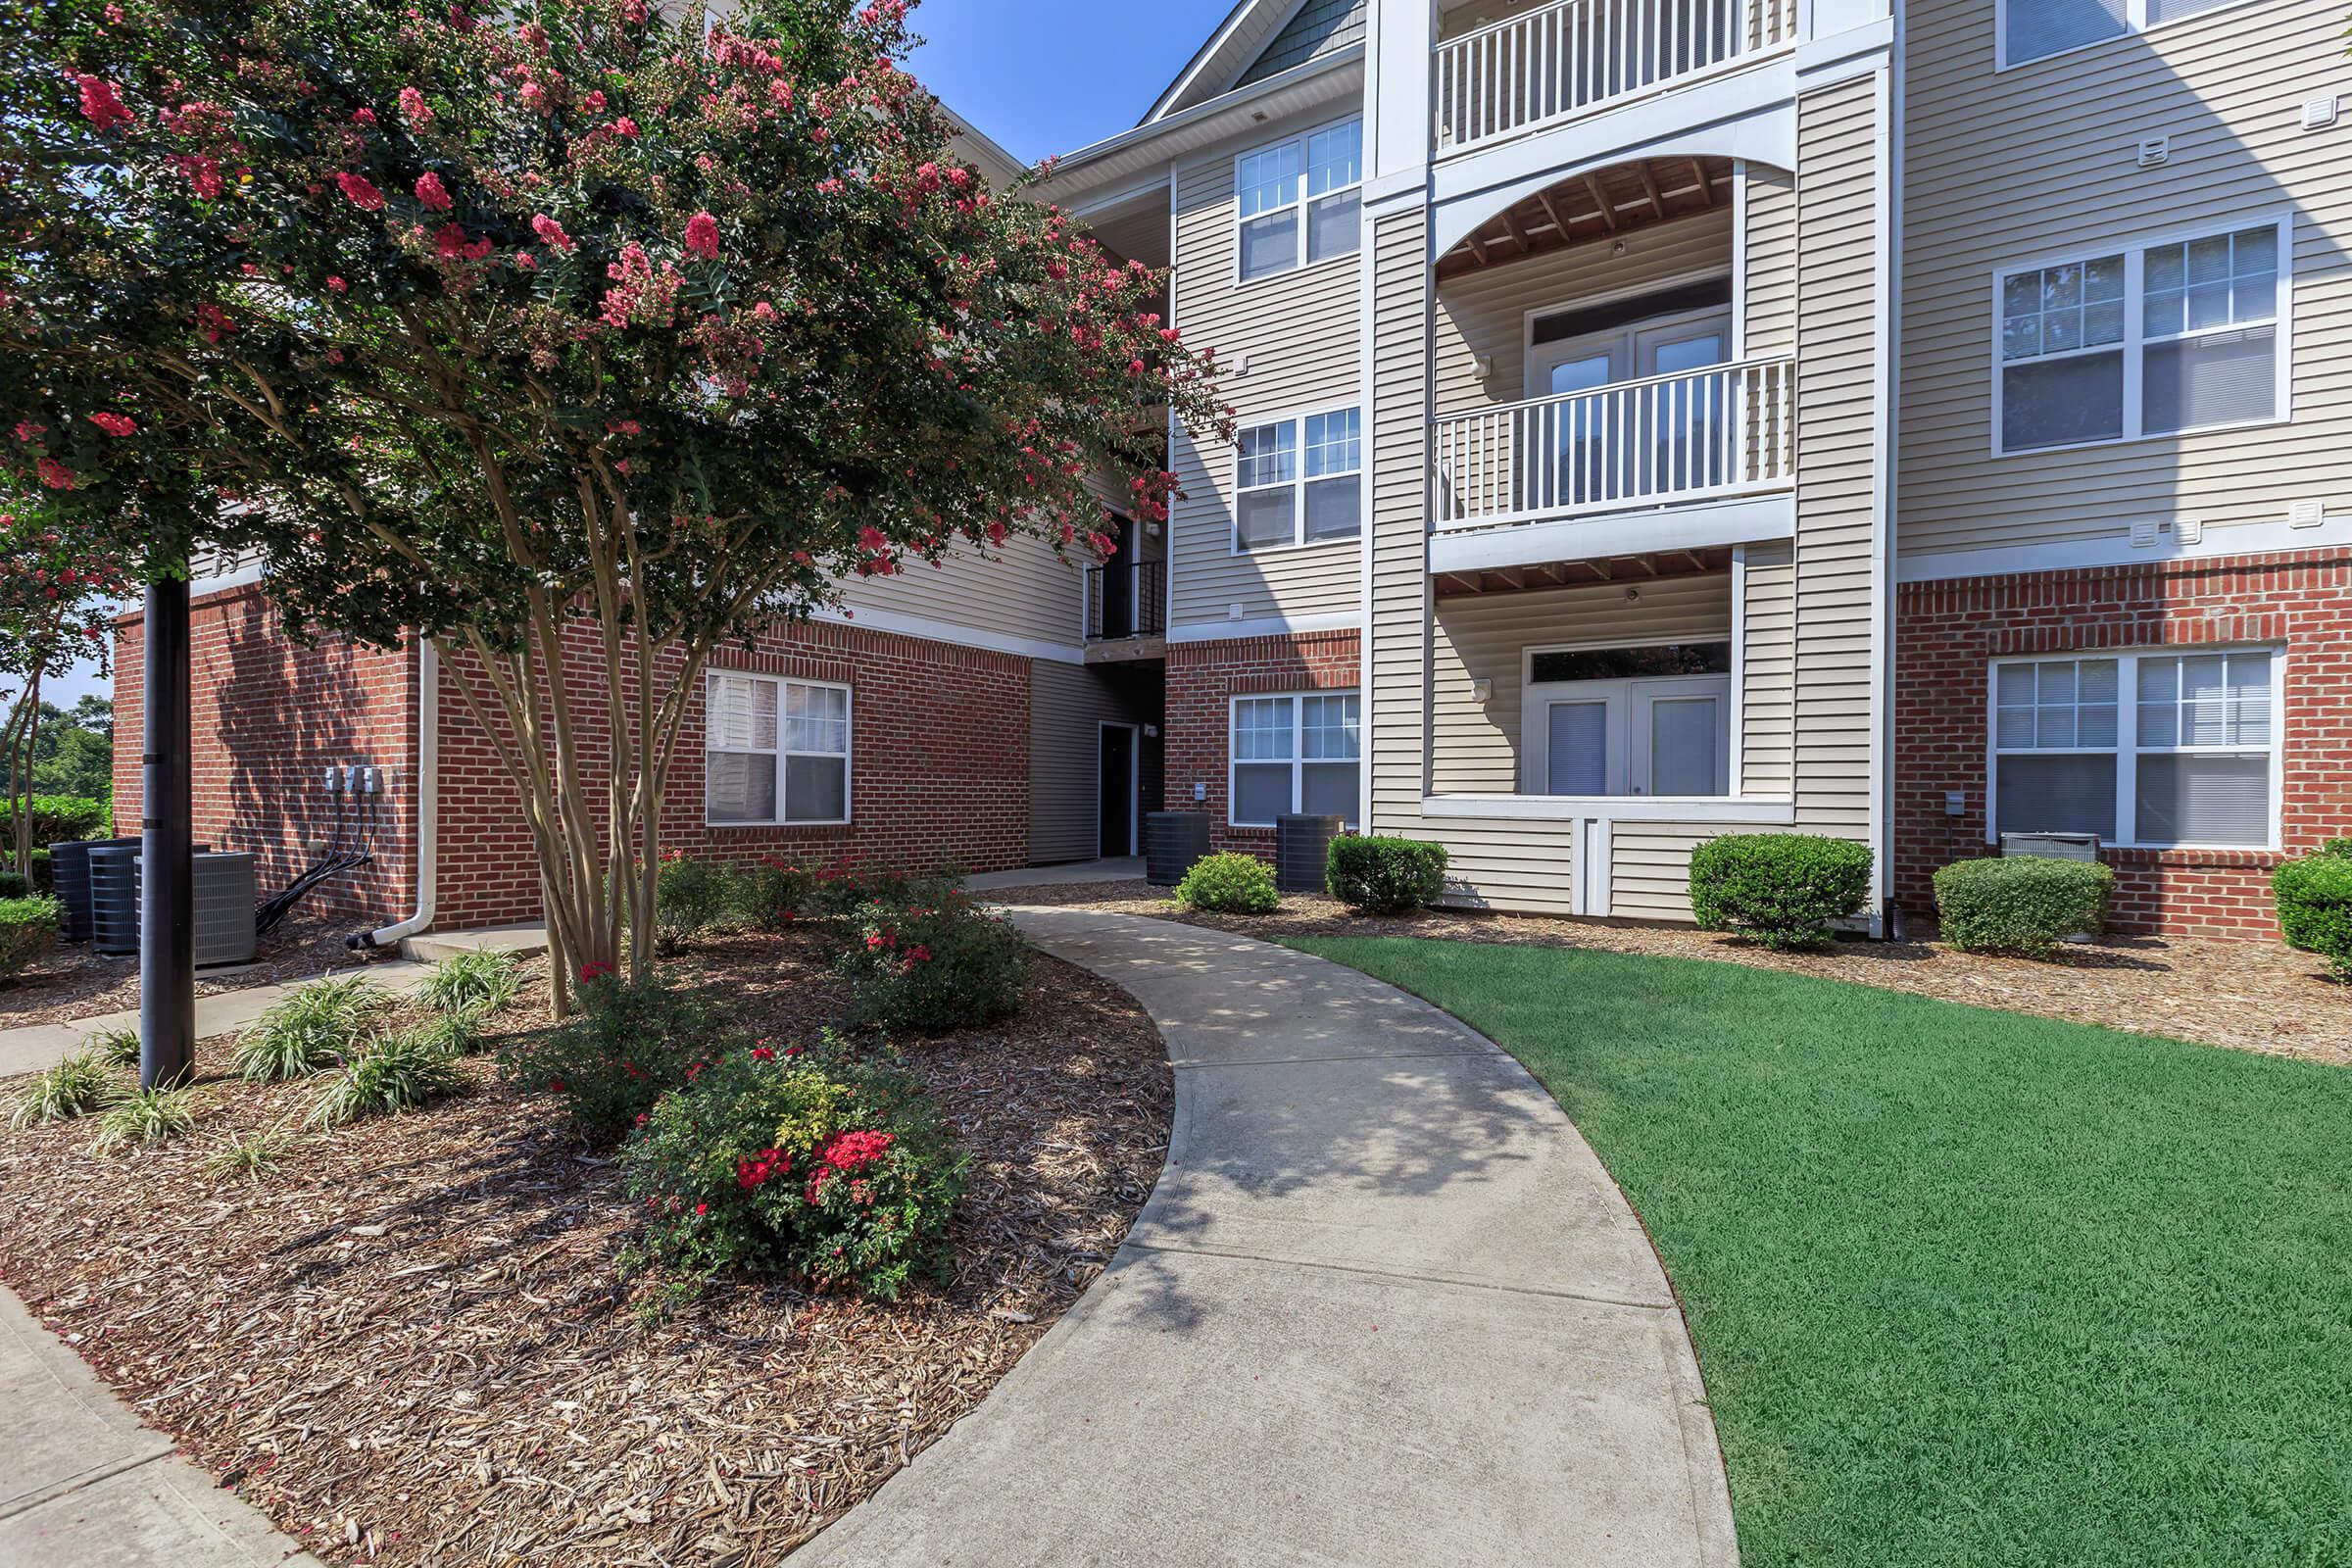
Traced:
[[[1437, 289], [1437, 414], [1468, 414], [1526, 397], [1526, 313], [1576, 308], [1604, 296], [1639, 294], [1668, 282], [1731, 270], [1731, 207], [1625, 235], [1611, 244], [1571, 244], [1529, 261], [1479, 268]], [[1494, 355], [1479, 378], [1477, 357]]]

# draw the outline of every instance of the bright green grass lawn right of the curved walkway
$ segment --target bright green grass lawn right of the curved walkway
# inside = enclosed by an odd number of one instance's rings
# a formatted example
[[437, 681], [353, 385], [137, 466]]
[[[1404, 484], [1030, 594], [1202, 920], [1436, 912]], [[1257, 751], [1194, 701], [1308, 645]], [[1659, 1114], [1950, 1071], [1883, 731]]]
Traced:
[[1501, 1041], [1599, 1150], [1748, 1568], [2352, 1563], [2352, 1072], [1733, 964], [1294, 945]]

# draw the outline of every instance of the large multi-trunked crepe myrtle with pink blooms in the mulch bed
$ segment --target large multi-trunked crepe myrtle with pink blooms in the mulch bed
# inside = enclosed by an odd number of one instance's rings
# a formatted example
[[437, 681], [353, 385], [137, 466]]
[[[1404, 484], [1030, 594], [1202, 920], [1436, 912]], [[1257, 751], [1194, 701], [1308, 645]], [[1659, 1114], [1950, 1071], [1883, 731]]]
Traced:
[[308, 630], [430, 637], [557, 976], [652, 959], [724, 639], [1014, 534], [1108, 552], [1089, 480], [1164, 517], [1167, 414], [1230, 428], [1155, 273], [955, 155], [906, 9], [56, 0], [0, 87], [0, 411], [134, 425], [16, 470], [92, 541], [259, 545]]

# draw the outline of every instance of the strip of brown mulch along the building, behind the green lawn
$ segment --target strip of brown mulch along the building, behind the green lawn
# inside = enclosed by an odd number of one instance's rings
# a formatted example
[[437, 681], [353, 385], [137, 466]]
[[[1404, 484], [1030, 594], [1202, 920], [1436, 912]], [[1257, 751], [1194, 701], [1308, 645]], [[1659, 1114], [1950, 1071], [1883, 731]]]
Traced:
[[1828, 952], [1771, 952], [1755, 943], [1693, 931], [1599, 919], [1477, 914], [1350, 914], [1322, 896], [1287, 893], [1275, 914], [1195, 914], [1143, 882], [990, 889], [993, 903], [1033, 903], [1155, 914], [1240, 936], [1430, 936], [1468, 943], [1541, 943], [1677, 959], [1719, 959], [1759, 969], [1882, 985], [1886, 990], [2171, 1034], [2237, 1051], [2352, 1065], [2352, 990], [2326, 966], [2284, 943], [2213, 938], [2110, 938], [2067, 947], [2058, 959], [1955, 952], [1938, 940], [1837, 943]]

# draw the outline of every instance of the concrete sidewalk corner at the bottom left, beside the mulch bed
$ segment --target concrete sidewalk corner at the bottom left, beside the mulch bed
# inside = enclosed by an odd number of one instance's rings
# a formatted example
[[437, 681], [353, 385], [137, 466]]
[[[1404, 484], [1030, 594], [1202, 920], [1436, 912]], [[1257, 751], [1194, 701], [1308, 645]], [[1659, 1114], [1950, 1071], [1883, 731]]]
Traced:
[[0, 1563], [320, 1568], [0, 1291]]

